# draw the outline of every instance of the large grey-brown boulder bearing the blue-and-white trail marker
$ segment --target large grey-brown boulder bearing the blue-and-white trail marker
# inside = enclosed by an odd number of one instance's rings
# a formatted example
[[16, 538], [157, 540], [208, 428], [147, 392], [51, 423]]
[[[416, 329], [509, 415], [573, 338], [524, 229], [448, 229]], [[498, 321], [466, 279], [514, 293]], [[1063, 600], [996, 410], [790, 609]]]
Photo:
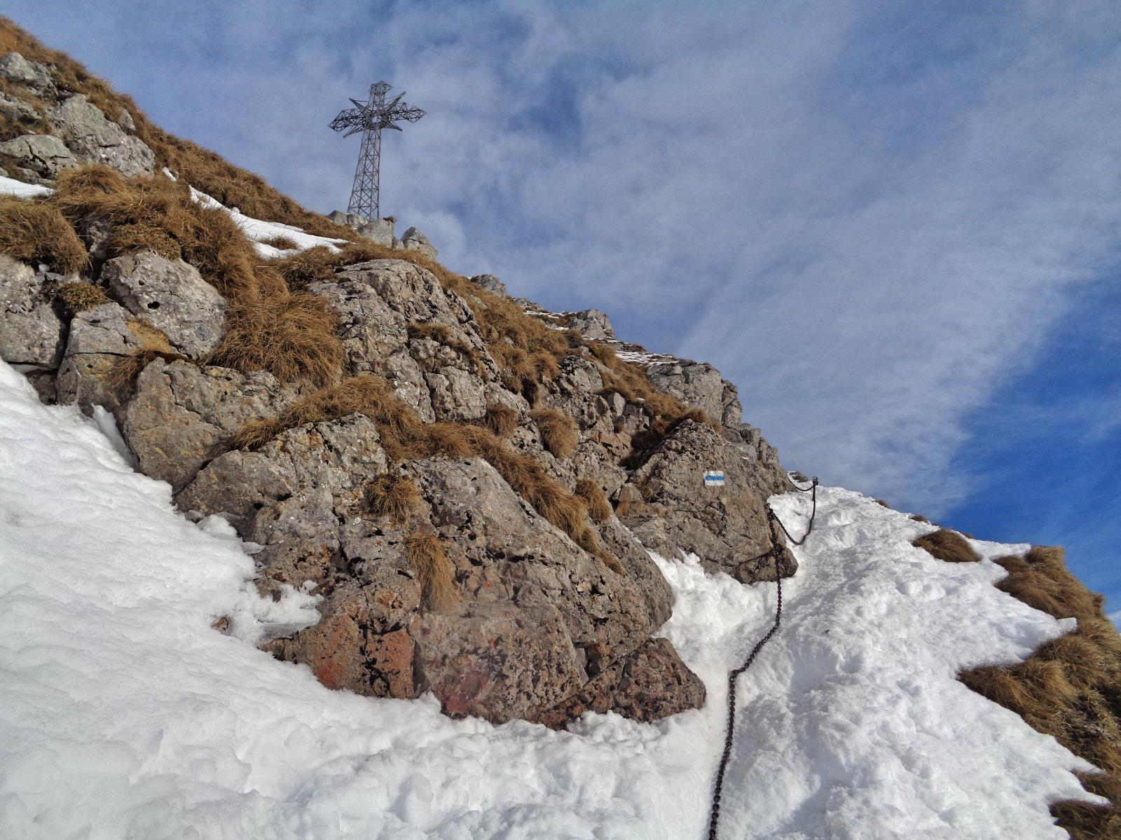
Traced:
[[[724, 487], [705, 487], [706, 470], [723, 470]], [[765, 504], [776, 478], [749, 467], [715, 430], [685, 421], [646, 453], [620, 489], [617, 513], [660, 554], [692, 552], [710, 572], [723, 570], [745, 582], [770, 580], [773, 565], [758, 559], [770, 550]], [[787, 552], [779, 573], [788, 576], [796, 567]]]

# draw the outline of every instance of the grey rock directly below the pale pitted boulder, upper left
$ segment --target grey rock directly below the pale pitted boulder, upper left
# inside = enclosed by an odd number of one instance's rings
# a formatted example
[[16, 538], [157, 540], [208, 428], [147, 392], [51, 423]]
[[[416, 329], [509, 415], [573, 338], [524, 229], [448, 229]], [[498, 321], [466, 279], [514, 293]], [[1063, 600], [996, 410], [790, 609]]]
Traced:
[[80, 312], [71, 320], [66, 351], [58, 368], [58, 401], [83, 409], [101, 405], [118, 414], [122, 384], [113, 377], [118, 362], [145, 349], [151, 327], [115, 303]]

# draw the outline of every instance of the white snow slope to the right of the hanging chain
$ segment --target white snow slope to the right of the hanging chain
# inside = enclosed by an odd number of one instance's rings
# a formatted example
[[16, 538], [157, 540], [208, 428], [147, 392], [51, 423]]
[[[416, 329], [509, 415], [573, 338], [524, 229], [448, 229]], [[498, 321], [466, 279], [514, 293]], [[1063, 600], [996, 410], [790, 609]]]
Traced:
[[[795, 537], [810, 504], [772, 500]], [[954, 676], [1023, 658], [1073, 620], [997, 590], [991, 562], [943, 563], [909, 544], [930, 529], [819, 488], [781, 629], [738, 683], [721, 837], [1066, 837], [1046, 803], [1085, 795], [1062, 770], [1081, 760]], [[1028, 546], [974, 547], [989, 560]], [[768, 590], [767, 609], [728, 639], [733, 666], [770, 626]]]

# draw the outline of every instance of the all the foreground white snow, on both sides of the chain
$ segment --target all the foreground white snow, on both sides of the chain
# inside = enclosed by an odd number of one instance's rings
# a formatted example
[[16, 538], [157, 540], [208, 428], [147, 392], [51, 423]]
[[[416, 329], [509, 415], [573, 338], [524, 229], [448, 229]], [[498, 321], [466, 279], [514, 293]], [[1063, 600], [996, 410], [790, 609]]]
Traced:
[[[167, 484], [2, 362], [0, 465], [6, 840], [705, 836], [725, 672], [770, 625], [773, 584], [658, 559], [676, 596], [663, 634], [707, 684], [702, 710], [569, 732], [453, 721], [430, 696], [327, 691], [257, 650], [314, 599], [258, 598], [228, 525], [177, 516]], [[773, 504], [799, 533], [808, 497]], [[990, 585], [989, 561], [912, 548], [928, 527], [821, 489], [782, 628], [740, 677], [721, 837], [1065, 836], [1047, 803], [1082, 795], [1068, 770], [1086, 765], [954, 673], [1069, 622]]]

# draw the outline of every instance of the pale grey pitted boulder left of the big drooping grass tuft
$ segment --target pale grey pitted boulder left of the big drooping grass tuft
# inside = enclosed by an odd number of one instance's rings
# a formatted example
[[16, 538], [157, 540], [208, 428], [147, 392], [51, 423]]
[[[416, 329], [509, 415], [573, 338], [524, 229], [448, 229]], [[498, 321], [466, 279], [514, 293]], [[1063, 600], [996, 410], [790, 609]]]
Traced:
[[187, 356], [202, 358], [222, 341], [225, 298], [182, 259], [149, 249], [127, 253], [105, 262], [101, 283]]

